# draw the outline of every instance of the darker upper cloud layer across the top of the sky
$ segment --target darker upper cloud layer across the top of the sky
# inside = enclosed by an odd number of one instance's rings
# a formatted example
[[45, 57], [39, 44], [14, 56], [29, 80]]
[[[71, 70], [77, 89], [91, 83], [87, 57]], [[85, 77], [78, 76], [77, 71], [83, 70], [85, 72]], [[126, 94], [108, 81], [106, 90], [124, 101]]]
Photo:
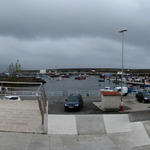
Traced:
[[3, 0], [0, 33], [26, 38], [116, 37], [115, 32], [125, 26], [137, 35], [150, 24], [148, 8], [142, 4], [138, 0]]

